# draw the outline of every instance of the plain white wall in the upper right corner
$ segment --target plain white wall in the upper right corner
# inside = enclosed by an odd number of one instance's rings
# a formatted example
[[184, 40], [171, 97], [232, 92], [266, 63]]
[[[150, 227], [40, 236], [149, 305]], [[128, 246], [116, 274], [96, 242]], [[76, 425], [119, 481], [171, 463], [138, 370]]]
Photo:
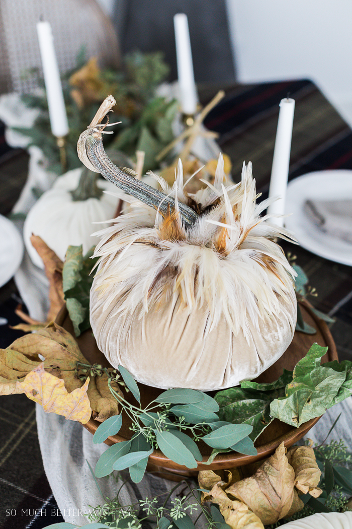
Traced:
[[237, 79], [309, 78], [352, 125], [351, 0], [226, 0]]

